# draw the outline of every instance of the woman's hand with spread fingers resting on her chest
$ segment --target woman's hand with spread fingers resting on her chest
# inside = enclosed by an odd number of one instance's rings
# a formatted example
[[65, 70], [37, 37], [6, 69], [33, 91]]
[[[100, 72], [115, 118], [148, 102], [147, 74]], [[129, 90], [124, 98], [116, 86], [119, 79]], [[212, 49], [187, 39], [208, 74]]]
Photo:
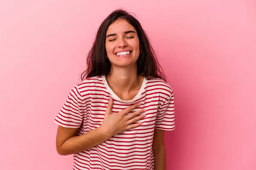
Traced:
[[132, 123], [137, 122], [146, 116], [145, 114], [138, 116], [140, 113], [144, 113], [146, 111], [145, 109], [141, 109], [140, 111], [136, 111], [127, 115], [130, 111], [132, 111], [134, 108], [137, 108], [139, 105], [140, 103], [134, 104], [123, 111], [112, 113], [113, 99], [110, 98], [108, 102], [108, 108], [105, 112], [105, 116], [101, 125], [102, 129], [105, 131], [105, 133], [108, 133], [108, 135], [112, 137], [118, 133], [124, 132], [125, 130], [142, 125], [142, 123]]

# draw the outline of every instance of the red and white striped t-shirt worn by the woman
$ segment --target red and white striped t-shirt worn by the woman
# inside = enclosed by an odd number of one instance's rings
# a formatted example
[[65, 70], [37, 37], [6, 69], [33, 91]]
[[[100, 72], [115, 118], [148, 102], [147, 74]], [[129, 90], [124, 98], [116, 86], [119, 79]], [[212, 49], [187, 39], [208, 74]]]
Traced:
[[[133, 111], [146, 109], [143, 125], [112, 136], [107, 141], [74, 154], [73, 170], [154, 170], [152, 141], [154, 128], [175, 129], [174, 94], [161, 79], [146, 79], [138, 94], [122, 100], [108, 86], [105, 76], [90, 77], [77, 84], [55, 118], [63, 127], [79, 128], [82, 135], [102, 124], [110, 97], [113, 113], [140, 102]], [[136, 123], [137, 123], [136, 122]]]

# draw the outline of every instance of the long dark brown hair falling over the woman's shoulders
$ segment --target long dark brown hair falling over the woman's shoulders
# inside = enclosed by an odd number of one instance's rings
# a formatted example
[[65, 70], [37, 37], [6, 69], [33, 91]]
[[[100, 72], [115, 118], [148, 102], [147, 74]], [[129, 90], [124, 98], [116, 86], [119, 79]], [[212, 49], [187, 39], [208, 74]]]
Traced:
[[157, 60], [154, 49], [148, 40], [147, 34], [140, 25], [140, 22], [122, 9], [113, 11], [99, 26], [93, 46], [87, 55], [87, 69], [81, 74], [81, 80], [102, 75], [107, 77], [107, 75], [110, 74], [111, 62], [106, 59], [106, 34], [108, 27], [117, 19], [126, 20], [137, 31], [140, 40], [140, 55], [137, 60], [137, 73], [143, 74], [147, 79], [155, 77], [166, 81], [163, 69]]

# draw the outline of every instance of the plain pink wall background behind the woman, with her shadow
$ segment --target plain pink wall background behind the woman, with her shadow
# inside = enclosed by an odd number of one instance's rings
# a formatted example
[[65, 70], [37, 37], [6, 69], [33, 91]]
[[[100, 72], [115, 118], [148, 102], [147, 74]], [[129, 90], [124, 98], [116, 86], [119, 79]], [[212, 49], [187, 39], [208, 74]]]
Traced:
[[255, 0], [2, 0], [0, 169], [72, 169], [53, 121], [120, 7], [137, 14], [174, 89], [167, 170], [256, 170]]

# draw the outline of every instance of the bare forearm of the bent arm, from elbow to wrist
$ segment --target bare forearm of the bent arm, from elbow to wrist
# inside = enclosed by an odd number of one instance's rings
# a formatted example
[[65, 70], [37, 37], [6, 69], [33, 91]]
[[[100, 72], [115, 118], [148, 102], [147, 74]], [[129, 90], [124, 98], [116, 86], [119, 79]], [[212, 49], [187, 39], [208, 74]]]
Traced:
[[70, 155], [90, 149], [111, 138], [110, 135], [102, 130], [102, 127], [93, 129], [80, 136], [73, 136], [67, 139], [60, 147], [58, 153], [61, 155]]

